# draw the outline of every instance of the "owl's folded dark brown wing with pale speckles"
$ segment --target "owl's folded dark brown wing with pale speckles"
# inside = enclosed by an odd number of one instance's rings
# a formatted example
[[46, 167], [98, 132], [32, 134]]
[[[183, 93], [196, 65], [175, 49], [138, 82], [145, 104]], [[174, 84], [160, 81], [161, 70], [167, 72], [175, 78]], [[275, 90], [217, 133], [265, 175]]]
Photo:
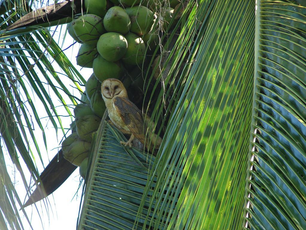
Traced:
[[141, 143], [144, 143], [144, 141], [147, 142], [147, 140], [145, 140], [147, 126], [144, 124], [143, 113], [140, 109], [127, 98], [116, 97], [113, 99], [113, 102], [116, 112], [134, 136]]

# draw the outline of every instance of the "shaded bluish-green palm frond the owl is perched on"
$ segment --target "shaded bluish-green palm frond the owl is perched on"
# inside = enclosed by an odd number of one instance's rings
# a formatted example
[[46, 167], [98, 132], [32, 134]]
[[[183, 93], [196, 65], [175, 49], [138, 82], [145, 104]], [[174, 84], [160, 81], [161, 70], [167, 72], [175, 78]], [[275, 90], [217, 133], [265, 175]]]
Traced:
[[142, 229], [146, 216], [155, 222], [153, 213], [145, 208], [138, 226], [134, 226], [140, 203], [148, 205], [150, 201], [151, 193], [144, 200], [142, 195], [154, 157], [148, 158], [134, 148], [125, 149], [119, 143], [124, 136], [105, 121], [97, 132], [78, 228]]

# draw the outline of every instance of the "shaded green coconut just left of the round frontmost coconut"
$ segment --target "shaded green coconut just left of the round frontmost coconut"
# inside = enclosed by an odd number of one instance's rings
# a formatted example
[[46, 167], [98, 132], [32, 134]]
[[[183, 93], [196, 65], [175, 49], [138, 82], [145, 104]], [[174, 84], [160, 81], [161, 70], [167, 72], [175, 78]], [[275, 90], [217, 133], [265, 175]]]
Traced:
[[96, 45], [83, 43], [77, 53], [76, 64], [81, 67], [92, 68], [92, 63], [97, 54], [98, 51]]

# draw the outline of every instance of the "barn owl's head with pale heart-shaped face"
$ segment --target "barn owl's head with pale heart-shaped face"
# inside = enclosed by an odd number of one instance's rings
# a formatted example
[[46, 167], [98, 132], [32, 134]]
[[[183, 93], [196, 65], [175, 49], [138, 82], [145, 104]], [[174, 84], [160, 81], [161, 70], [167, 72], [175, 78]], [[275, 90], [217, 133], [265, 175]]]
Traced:
[[102, 82], [101, 85], [102, 96], [105, 98], [113, 98], [116, 95], [127, 97], [127, 92], [122, 82], [118, 79], [110, 78]]

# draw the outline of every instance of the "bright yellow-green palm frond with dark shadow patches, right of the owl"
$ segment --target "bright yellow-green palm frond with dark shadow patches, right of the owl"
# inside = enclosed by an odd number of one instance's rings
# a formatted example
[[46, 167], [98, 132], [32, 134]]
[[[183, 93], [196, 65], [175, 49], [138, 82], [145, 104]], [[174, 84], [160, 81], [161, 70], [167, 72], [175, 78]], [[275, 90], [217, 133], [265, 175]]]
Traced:
[[[239, 229], [252, 114], [255, 5], [197, 3], [190, 2], [192, 11], [168, 59], [173, 58], [165, 80], [169, 90], [159, 97], [160, 104], [164, 96], [172, 98], [164, 141], [150, 172], [157, 176], [150, 207], [157, 202], [173, 210], [172, 218], [154, 210], [158, 220], [170, 221], [167, 229]], [[162, 107], [155, 107], [156, 120]], [[167, 184], [177, 190], [167, 190]], [[144, 197], [152, 185], [153, 180]], [[176, 207], [163, 194], [178, 197]], [[146, 224], [157, 229], [149, 219]]]

